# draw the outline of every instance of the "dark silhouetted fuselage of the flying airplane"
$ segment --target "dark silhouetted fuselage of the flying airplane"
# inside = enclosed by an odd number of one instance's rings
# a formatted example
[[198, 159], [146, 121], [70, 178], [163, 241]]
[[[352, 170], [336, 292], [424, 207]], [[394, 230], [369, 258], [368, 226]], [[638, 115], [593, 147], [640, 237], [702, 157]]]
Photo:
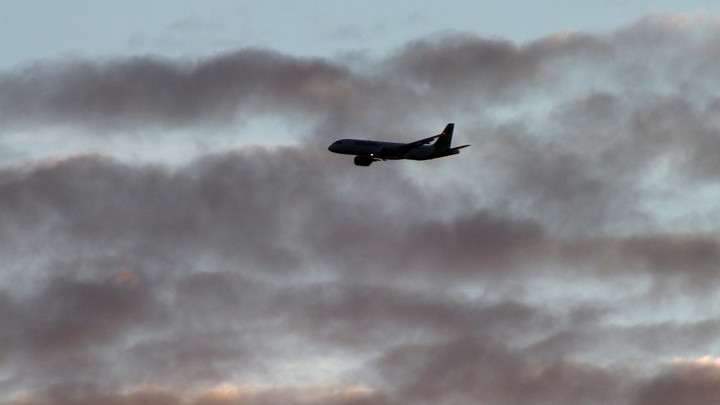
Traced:
[[436, 153], [432, 145], [419, 145], [409, 150], [404, 150], [404, 143], [366, 141], [360, 139], [340, 139], [328, 147], [328, 150], [344, 155], [369, 156], [375, 159], [410, 159], [428, 160], [447, 156]]

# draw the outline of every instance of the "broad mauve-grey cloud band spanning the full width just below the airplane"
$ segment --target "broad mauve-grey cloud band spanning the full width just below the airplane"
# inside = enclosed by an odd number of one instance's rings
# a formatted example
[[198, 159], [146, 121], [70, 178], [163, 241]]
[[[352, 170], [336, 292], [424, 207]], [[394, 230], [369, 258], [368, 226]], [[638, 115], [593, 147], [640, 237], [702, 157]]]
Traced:
[[[386, 190], [374, 189], [379, 194], [339, 191], [354, 167], [344, 165], [330, 176], [314, 153], [253, 148], [172, 171], [92, 156], [29, 172], [8, 170], [0, 230], [8, 252], [28, 246], [72, 250], [83, 243], [98, 251], [206, 252], [277, 271], [321, 261], [361, 274], [424, 269], [485, 278], [529, 271], [527, 265], [547, 259], [684, 277], [698, 285], [715, 279], [718, 241], [711, 234], [590, 234], [569, 241], [541, 222], [494, 209], [447, 220], [425, 208], [447, 199], [423, 193], [401, 174], [386, 172]], [[382, 195], [397, 199], [398, 211], [379, 211], [389, 207]], [[26, 245], [26, 238], [33, 243]]]

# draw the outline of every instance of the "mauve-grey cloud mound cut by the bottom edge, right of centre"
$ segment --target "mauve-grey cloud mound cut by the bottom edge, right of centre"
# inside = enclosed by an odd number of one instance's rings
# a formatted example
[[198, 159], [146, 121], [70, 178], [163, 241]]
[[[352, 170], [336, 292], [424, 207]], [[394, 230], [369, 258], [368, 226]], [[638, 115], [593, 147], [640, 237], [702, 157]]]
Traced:
[[472, 339], [400, 348], [381, 370], [409, 403], [616, 403], [622, 381], [632, 377], [582, 362], [523, 359]]

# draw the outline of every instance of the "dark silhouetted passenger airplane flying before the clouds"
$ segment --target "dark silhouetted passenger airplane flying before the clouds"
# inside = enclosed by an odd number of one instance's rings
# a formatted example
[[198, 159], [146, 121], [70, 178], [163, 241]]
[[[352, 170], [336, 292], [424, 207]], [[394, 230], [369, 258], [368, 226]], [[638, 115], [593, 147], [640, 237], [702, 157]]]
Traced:
[[[457, 155], [460, 149], [470, 145], [450, 147], [454, 123], [449, 123], [442, 133], [410, 143], [363, 141], [359, 139], [340, 139], [328, 147], [330, 152], [343, 155], [355, 155], [357, 166], [370, 166], [379, 160], [431, 160]], [[432, 141], [432, 145], [428, 145]]]

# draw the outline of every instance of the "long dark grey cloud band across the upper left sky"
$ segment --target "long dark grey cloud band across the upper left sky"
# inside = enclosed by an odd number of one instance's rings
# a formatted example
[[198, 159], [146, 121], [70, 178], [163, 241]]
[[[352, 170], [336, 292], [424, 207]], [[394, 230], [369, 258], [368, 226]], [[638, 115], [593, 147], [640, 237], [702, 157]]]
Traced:
[[[244, 50], [201, 62], [154, 57], [37, 62], [0, 77], [5, 126], [182, 126], [262, 113], [326, 108], [348, 72], [318, 59]], [[308, 107], [304, 107], [308, 105]]]

